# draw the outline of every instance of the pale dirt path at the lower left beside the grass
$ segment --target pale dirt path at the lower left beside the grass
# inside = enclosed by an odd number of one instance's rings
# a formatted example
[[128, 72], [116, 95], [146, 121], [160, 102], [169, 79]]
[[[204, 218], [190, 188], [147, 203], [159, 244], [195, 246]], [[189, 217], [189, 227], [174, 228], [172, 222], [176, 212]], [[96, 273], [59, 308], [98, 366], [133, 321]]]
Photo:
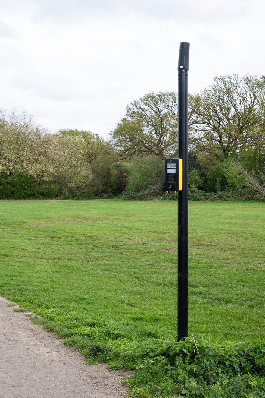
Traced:
[[85, 365], [83, 357], [0, 297], [0, 398], [127, 396], [126, 372]]

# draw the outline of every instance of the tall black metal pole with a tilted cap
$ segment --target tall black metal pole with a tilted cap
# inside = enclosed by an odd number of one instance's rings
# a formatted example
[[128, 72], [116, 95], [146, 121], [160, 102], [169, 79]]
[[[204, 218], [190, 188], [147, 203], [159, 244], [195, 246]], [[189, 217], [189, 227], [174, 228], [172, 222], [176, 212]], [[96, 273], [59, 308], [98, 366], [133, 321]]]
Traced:
[[178, 58], [178, 158], [183, 188], [178, 191], [178, 341], [188, 337], [188, 69], [190, 43], [180, 43]]

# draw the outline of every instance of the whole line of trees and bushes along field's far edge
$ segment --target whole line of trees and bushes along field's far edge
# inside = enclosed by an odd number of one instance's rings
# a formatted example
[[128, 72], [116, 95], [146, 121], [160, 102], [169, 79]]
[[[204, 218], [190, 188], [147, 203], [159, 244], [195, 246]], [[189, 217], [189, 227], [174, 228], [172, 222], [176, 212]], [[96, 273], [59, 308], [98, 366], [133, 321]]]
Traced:
[[[164, 159], [177, 156], [177, 108], [176, 92], [147, 93], [106, 139], [51, 134], [26, 113], [0, 111], [0, 199], [168, 198]], [[190, 199], [263, 200], [264, 181], [265, 76], [219, 76], [189, 94]]]

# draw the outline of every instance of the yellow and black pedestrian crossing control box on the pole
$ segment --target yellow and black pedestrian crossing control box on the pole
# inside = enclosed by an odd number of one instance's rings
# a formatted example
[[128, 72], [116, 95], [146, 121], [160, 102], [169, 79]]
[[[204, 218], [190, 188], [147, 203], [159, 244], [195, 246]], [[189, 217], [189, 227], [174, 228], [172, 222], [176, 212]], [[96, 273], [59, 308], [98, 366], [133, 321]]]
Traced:
[[182, 190], [182, 159], [165, 159], [165, 189], [166, 193]]

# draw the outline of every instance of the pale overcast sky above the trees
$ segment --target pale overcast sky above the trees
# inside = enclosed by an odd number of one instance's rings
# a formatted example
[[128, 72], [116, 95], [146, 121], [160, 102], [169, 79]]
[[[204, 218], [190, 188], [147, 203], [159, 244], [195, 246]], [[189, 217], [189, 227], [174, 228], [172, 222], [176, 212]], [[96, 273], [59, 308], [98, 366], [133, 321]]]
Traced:
[[261, 0], [0, 0], [0, 108], [106, 137], [130, 101], [177, 90], [180, 41], [191, 93], [265, 74], [264, 21]]

